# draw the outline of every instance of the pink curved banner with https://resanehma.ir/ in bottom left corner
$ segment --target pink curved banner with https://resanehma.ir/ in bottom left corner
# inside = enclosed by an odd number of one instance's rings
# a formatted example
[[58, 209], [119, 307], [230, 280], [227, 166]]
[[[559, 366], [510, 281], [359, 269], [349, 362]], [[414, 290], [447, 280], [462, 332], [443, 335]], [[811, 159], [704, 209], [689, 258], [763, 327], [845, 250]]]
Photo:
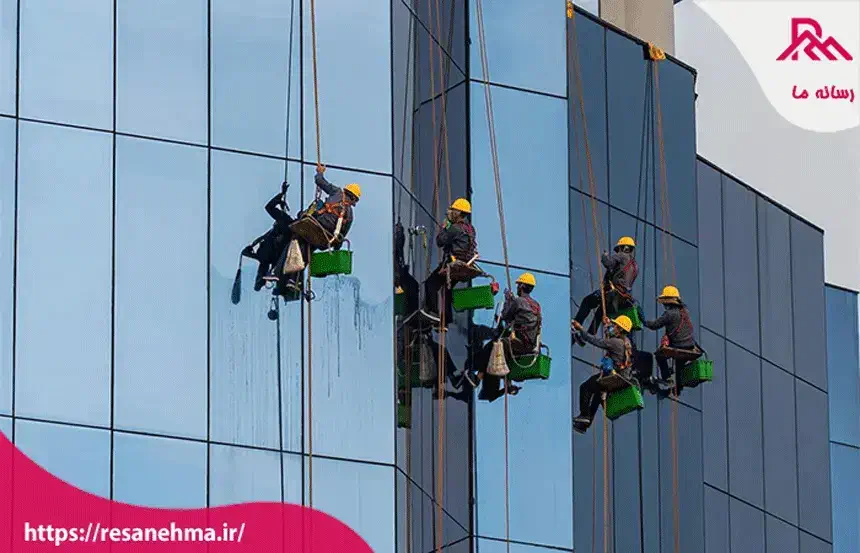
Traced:
[[372, 552], [345, 524], [299, 505], [157, 509], [110, 501], [53, 476], [0, 432], [0, 553], [42, 551]]

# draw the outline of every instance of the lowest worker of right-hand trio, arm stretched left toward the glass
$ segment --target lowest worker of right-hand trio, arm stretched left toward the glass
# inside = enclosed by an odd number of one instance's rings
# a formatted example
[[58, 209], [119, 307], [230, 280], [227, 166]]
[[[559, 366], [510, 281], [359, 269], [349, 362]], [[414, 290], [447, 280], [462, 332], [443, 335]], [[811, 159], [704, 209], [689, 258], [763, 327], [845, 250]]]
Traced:
[[610, 321], [604, 318], [603, 324], [607, 327], [607, 336], [598, 338], [591, 333], [585, 332], [582, 324], [576, 320], [572, 321], [571, 329], [574, 335], [578, 335], [589, 344], [606, 351], [601, 361], [602, 371], [591, 376], [579, 386], [579, 416], [573, 419], [573, 429], [584, 433], [591, 426], [594, 415], [600, 407], [601, 396], [606, 388], [600, 382], [601, 373], [615, 371], [622, 378], [633, 383], [633, 343], [628, 334], [633, 328], [633, 321], [627, 315], [620, 315]]

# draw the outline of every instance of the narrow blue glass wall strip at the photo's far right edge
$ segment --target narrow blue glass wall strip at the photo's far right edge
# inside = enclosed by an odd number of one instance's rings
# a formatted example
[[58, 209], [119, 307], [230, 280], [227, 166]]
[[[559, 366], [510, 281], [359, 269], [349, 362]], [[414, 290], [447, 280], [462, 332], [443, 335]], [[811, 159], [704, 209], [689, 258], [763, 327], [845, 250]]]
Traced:
[[860, 550], [860, 351], [857, 293], [827, 287], [833, 551]]

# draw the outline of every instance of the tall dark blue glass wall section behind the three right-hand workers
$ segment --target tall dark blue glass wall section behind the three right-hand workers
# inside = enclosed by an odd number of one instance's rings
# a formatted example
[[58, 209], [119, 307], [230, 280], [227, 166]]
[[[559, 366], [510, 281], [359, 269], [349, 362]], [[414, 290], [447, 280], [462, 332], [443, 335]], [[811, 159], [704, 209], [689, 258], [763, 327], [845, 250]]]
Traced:
[[[674, 59], [655, 67], [641, 42], [579, 12], [567, 35], [569, 309], [577, 312], [598, 289], [600, 254], [628, 236], [638, 265], [631, 292], [646, 319], [663, 311], [656, 301], [663, 286], [675, 285], [701, 343], [707, 292], [699, 286], [695, 74]], [[631, 338], [653, 352], [659, 334], [645, 329]], [[572, 347], [574, 415], [579, 386], [601, 356], [589, 345]], [[702, 393], [685, 389], [678, 400], [645, 393], [643, 410], [614, 422], [601, 410], [587, 434], [573, 435], [574, 550], [668, 552], [676, 538], [680, 551], [705, 550]]]

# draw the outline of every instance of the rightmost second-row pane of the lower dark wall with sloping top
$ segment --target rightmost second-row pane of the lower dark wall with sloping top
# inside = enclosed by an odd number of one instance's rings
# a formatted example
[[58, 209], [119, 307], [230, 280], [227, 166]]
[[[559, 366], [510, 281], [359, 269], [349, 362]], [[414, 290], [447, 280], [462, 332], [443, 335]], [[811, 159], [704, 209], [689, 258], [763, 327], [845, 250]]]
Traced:
[[800, 528], [830, 539], [830, 444], [827, 394], [797, 380], [798, 505]]

